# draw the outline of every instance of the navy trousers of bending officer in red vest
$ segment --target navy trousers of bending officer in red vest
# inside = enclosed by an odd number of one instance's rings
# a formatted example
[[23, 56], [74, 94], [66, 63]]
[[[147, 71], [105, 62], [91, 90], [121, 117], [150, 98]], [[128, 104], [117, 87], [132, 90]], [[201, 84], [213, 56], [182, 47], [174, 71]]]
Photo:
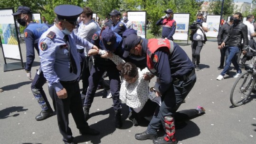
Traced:
[[162, 94], [162, 103], [159, 109], [156, 109], [155, 114], [150, 121], [147, 128], [147, 132], [150, 134], [156, 134], [157, 130], [161, 127], [165, 127], [164, 117], [172, 116], [180, 107], [180, 104], [184, 102], [186, 96], [190, 93], [190, 90], [196, 83], [196, 74], [190, 76], [186, 81], [180, 81], [177, 84], [172, 84], [171, 87]]

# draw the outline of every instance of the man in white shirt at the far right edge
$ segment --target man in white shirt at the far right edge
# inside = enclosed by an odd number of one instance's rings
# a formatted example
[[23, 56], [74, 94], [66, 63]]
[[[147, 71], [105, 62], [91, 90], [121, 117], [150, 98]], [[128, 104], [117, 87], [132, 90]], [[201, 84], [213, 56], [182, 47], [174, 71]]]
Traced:
[[[248, 32], [247, 32], [248, 41], [249, 41], [249, 44], [248, 44], [248, 45], [250, 45], [250, 41], [253, 41], [253, 40], [252, 40], [253, 37], [256, 36], [256, 33], [255, 33], [255, 31], [254, 31], [254, 26], [253, 26], [254, 21], [255, 21], [254, 15], [248, 15], [248, 16], [246, 17], [246, 21], [244, 22], [244, 24], [247, 25], [247, 30], [248, 30]], [[251, 46], [251, 45], [250, 45], [250, 46]], [[247, 55], [246, 52], [247, 52], [247, 51], [243, 51], [244, 56], [243, 56], [243, 58], [242, 58], [242, 60], [241, 60], [241, 66], [240, 66], [241, 68], [245, 68], [245, 63], [246, 63], [247, 60], [249, 60], [248, 58], [250, 58], [250, 56]]]

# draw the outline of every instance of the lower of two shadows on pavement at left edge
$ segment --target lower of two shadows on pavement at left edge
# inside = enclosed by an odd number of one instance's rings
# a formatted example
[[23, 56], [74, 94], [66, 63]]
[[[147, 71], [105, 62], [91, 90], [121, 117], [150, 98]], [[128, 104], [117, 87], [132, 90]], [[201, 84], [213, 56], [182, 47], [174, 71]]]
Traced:
[[12, 107], [0, 110], [0, 119], [6, 119], [8, 117], [17, 117], [17, 116], [19, 116], [19, 113], [16, 113], [13, 115], [10, 115], [10, 114], [14, 113], [14, 112], [20, 112], [20, 111], [26, 111], [26, 110], [28, 110], [28, 109], [23, 109], [23, 107], [21, 107], [21, 106], [19, 106], [19, 107], [12, 106]]

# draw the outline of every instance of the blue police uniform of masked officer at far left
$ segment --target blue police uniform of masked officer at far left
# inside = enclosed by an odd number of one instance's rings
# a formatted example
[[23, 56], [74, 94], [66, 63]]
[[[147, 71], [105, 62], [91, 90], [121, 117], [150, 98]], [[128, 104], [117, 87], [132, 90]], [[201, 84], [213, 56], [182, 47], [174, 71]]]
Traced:
[[[35, 59], [35, 49], [39, 55], [39, 50], [38, 50], [39, 38], [45, 31], [47, 31], [48, 28], [49, 27], [46, 24], [37, 24], [32, 22], [32, 23], [29, 23], [26, 29], [24, 30], [24, 35], [25, 35], [24, 39], [26, 43], [26, 56], [27, 56], [27, 62], [26, 62], [26, 68], [25, 68], [26, 71], [31, 71], [31, 67]], [[36, 117], [36, 120], [43, 120], [53, 115], [53, 110], [43, 90], [43, 85], [45, 83], [46, 83], [46, 78], [44, 77], [43, 72], [41, 71], [41, 68], [39, 68], [31, 84], [32, 93], [34, 94], [35, 98], [37, 99], [42, 109], [40, 114]]]

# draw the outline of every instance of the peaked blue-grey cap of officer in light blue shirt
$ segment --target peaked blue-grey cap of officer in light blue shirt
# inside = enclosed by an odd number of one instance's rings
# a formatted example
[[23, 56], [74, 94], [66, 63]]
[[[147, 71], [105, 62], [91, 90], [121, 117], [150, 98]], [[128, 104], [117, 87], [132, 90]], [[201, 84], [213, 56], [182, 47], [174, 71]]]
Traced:
[[77, 17], [83, 12], [83, 8], [74, 5], [59, 5], [54, 8], [57, 18], [68, 21], [72, 25], [77, 25]]

